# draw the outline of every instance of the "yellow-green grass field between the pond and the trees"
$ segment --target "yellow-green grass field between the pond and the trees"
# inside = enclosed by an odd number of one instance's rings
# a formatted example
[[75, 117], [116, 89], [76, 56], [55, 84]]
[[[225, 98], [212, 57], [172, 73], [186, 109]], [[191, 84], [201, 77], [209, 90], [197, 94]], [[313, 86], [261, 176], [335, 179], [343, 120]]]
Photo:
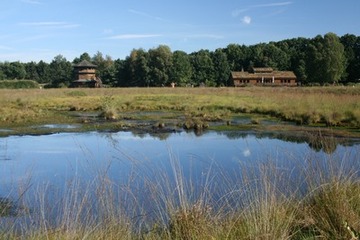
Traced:
[[[178, 124], [184, 126], [226, 123], [234, 114], [246, 113], [359, 134], [360, 88], [0, 89], [0, 128], [22, 127], [20, 132], [36, 124], [78, 121], [70, 112], [98, 112], [113, 124], [129, 113], [140, 118], [137, 112], [159, 111], [168, 113], [167, 118], [181, 116], [185, 120]], [[152, 117], [161, 121], [157, 114]], [[85, 124], [84, 129], [89, 128], [91, 125]]]

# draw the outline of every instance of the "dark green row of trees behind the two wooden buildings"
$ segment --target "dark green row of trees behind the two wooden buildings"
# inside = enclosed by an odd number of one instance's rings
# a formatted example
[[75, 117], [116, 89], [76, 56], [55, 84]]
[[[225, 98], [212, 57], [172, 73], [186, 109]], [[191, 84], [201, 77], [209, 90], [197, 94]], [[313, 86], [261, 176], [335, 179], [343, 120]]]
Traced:
[[97, 52], [68, 61], [62, 55], [50, 63], [0, 62], [0, 80], [31, 79], [50, 87], [66, 87], [74, 80], [73, 64], [96, 64], [97, 75], [111, 87], [231, 86], [231, 71], [271, 67], [294, 71], [301, 84], [360, 82], [360, 37], [334, 33], [293, 38], [251, 46], [229, 44], [215, 51], [172, 51], [166, 45], [133, 49], [125, 59], [113, 60]]

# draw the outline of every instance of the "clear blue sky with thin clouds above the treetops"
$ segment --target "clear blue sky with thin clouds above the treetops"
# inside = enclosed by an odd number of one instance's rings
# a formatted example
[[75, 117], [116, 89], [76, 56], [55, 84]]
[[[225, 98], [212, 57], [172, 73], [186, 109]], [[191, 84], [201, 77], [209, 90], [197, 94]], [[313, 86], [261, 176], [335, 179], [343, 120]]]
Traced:
[[360, 35], [359, 0], [2, 0], [0, 62], [125, 59], [161, 44], [187, 53], [334, 32]]

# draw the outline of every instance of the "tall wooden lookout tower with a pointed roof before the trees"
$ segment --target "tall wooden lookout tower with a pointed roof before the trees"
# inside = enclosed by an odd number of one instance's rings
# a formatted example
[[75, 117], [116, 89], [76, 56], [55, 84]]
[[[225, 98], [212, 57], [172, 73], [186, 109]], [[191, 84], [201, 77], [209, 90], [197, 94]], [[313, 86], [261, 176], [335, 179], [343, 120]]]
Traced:
[[70, 87], [98, 88], [102, 86], [101, 79], [96, 77], [97, 66], [84, 60], [74, 65], [75, 79]]

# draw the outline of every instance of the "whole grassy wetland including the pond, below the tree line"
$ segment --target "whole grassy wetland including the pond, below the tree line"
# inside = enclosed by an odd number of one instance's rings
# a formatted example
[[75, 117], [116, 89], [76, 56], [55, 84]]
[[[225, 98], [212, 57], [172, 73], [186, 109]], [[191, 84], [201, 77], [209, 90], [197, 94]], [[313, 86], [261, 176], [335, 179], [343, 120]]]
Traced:
[[358, 88], [0, 93], [1, 237], [360, 230]]

